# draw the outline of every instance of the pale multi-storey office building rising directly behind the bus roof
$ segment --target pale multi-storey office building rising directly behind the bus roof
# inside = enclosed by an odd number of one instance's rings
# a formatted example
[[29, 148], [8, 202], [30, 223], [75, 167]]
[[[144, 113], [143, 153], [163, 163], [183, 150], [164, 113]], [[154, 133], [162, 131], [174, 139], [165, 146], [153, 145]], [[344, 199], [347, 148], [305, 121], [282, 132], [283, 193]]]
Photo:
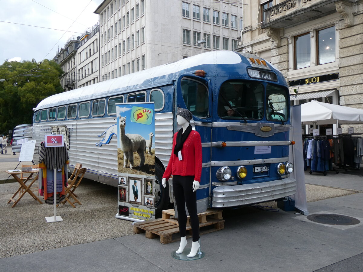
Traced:
[[206, 51], [235, 50], [241, 35], [238, 0], [105, 0], [95, 13], [101, 81]]

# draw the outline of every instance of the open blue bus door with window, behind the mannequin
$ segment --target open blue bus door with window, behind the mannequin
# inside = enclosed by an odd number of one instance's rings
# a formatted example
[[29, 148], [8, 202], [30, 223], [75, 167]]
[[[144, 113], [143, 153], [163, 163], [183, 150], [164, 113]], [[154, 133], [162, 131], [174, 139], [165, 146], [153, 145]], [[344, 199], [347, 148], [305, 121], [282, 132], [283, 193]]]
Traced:
[[[211, 174], [212, 92], [209, 82], [200, 77], [180, 77], [177, 83], [176, 106], [187, 108], [193, 115], [191, 125], [199, 132], [202, 143], [202, 174], [197, 190], [198, 213], [209, 205]], [[175, 111], [176, 115], [176, 111]], [[176, 117], [176, 116], [175, 116]], [[180, 126], [177, 127], [177, 131]]]

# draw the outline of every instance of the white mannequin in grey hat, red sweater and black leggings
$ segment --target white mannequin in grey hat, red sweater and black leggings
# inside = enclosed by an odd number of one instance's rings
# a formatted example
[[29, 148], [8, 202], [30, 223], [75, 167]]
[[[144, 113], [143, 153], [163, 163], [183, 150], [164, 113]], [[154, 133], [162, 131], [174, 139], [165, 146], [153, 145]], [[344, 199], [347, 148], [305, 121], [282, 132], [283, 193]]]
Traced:
[[178, 210], [178, 222], [180, 232], [180, 246], [177, 254], [183, 252], [187, 245], [186, 224], [187, 214], [185, 204], [191, 220], [193, 242], [188, 257], [194, 257], [200, 247], [199, 244], [199, 219], [196, 208], [196, 190], [199, 188], [202, 147], [198, 132], [192, 130], [189, 121], [192, 119], [190, 111], [178, 108], [176, 121], [181, 125], [179, 132], [173, 137], [173, 149], [168, 166], [163, 175], [162, 184], [166, 187], [166, 181], [173, 175], [173, 189]]

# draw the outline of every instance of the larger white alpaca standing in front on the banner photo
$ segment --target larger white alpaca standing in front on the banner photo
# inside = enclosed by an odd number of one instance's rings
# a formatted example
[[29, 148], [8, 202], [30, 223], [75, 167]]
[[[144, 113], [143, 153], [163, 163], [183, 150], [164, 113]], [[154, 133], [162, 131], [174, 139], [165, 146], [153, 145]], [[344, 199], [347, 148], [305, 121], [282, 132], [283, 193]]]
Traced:
[[145, 139], [139, 134], [125, 134], [126, 117], [119, 117], [120, 121], [120, 149], [123, 151], [123, 168], [126, 168], [130, 160], [130, 168], [134, 167], [134, 152], [140, 156], [140, 166], [144, 165], [146, 147]]

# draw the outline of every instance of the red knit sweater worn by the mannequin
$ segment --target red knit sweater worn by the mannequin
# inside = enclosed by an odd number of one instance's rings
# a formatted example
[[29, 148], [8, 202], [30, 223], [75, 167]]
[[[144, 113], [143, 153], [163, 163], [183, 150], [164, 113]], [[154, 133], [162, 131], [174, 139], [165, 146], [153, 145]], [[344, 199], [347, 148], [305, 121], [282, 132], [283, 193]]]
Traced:
[[163, 178], [167, 180], [170, 176], [194, 176], [194, 180], [200, 182], [200, 175], [202, 172], [202, 144], [200, 135], [195, 130], [192, 130], [181, 149], [181, 157], [183, 160], [179, 161], [179, 158], [174, 154], [174, 147], [176, 141], [176, 135], [173, 138], [173, 149], [171, 151], [168, 167], [166, 168]]

